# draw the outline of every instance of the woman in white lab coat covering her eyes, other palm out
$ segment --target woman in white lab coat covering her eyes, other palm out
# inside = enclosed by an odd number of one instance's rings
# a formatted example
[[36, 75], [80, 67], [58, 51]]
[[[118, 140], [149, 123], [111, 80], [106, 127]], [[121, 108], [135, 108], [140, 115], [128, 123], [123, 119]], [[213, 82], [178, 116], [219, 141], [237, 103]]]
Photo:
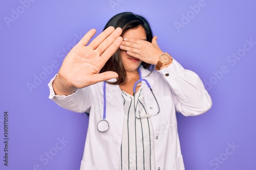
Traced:
[[80, 169], [184, 169], [175, 112], [210, 109], [200, 78], [161, 51], [139, 15], [115, 15], [86, 46], [94, 34], [81, 39], [49, 83], [58, 105], [90, 113]]

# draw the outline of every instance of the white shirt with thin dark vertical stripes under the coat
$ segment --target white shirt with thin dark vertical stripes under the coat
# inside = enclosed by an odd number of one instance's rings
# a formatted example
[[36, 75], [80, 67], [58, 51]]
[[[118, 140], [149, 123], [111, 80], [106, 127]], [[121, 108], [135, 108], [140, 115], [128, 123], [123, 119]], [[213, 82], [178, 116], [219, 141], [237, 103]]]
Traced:
[[142, 88], [134, 96], [122, 91], [124, 123], [119, 169], [155, 169], [153, 128], [151, 118], [138, 119], [147, 114], [142, 95]]

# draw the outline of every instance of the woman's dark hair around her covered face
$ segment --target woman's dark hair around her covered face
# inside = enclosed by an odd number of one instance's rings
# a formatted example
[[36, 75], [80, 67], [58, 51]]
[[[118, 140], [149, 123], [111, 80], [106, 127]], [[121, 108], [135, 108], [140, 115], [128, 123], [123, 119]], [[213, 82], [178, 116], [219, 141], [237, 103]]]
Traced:
[[[139, 26], [142, 26], [145, 29], [146, 40], [148, 42], [152, 42], [153, 34], [152, 34], [152, 30], [150, 28], [150, 25], [147, 22], [147, 20], [144, 17], [140, 16], [140, 15], [136, 15], [132, 12], [119, 13], [119, 14], [113, 16], [109, 20], [109, 22], [106, 23], [106, 26], [105, 26], [104, 30], [106, 28], [110, 27], [110, 26], [113, 26], [115, 29], [120, 27], [122, 29], [123, 33], [125, 31], [129, 30], [129, 29], [134, 29], [134, 28], [137, 28]], [[152, 64], [147, 64], [145, 62], [142, 62], [141, 65], [143, 65], [143, 67], [146, 68], [146, 69], [149, 69], [151, 67], [153, 68]], [[121, 62], [119, 48], [115, 52], [115, 54], [105, 63], [105, 65], [100, 70], [100, 72], [104, 72], [104, 71], [115, 71], [115, 72], [117, 72], [117, 74], [118, 74], [117, 81], [114, 82], [114, 83], [111, 83], [111, 84], [126, 83], [126, 81], [127, 81], [126, 72], [125, 72], [125, 69], [124, 69], [123, 64]]]

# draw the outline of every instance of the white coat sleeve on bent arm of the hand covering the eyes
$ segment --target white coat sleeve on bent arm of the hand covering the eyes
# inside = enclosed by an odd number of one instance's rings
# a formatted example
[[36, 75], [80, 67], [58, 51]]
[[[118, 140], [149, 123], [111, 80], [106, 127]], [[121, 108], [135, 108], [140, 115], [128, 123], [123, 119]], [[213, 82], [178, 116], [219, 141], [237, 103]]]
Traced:
[[211, 108], [211, 98], [195, 72], [184, 69], [175, 59], [159, 72], [172, 90], [176, 111], [195, 116]]

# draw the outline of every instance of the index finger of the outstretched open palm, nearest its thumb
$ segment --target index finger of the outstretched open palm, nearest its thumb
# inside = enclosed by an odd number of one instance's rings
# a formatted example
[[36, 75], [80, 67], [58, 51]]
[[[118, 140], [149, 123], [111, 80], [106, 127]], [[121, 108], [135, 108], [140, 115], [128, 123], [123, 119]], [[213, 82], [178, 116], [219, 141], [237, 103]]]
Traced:
[[114, 40], [114, 42], [108, 48], [106, 48], [106, 50], [101, 55], [101, 59], [104, 63], [108, 61], [109, 58], [117, 51], [122, 41], [123, 41], [122, 37], [117, 37]]

